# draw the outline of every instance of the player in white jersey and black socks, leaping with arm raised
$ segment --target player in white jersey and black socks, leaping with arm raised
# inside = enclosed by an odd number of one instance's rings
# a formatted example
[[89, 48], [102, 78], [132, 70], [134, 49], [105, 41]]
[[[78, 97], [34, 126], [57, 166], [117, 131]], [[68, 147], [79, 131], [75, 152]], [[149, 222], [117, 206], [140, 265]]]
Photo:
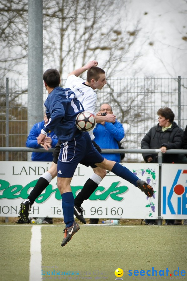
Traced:
[[[84, 110], [89, 111], [95, 115], [95, 106], [97, 101], [97, 94], [94, 91], [95, 89], [101, 90], [103, 86], [106, 84], [106, 76], [105, 71], [99, 67], [97, 67], [97, 61], [91, 61], [86, 64], [84, 67], [81, 67], [77, 70], [72, 71], [66, 81], [65, 87], [72, 89], [75, 92], [76, 97], [82, 103]], [[84, 71], [87, 72], [87, 80], [84, 81], [82, 78], [78, 77]], [[102, 121], [112, 122], [114, 123], [116, 120], [116, 116], [113, 114], [107, 114], [106, 116], [95, 116], [96, 122], [100, 123]], [[93, 131], [90, 133], [91, 139], [93, 141]], [[96, 145], [93, 141], [96, 149], [101, 152], [101, 149], [98, 145]], [[48, 150], [48, 147], [44, 148]], [[53, 162], [51, 164], [50, 169], [45, 172], [26, 200], [21, 203], [20, 216], [23, 221], [27, 221], [28, 214], [31, 208], [31, 205], [34, 204], [36, 198], [43, 192], [43, 190], [49, 185], [50, 181], [57, 175], [57, 161], [60, 152], [60, 143], [58, 142], [55, 150], [53, 152]], [[74, 206], [74, 214], [75, 216], [84, 224], [86, 224], [86, 220], [83, 217], [83, 208], [81, 204], [84, 200], [88, 199], [89, 196], [93, 193], [94, 190], [98, 187], [99, 183], [106, 175], [106, 170], [103, 170], [95, 165], [92, 165], [94, 170], [94, 174], [86, 181], [83, 189], [75, 198], [75, 206]]]

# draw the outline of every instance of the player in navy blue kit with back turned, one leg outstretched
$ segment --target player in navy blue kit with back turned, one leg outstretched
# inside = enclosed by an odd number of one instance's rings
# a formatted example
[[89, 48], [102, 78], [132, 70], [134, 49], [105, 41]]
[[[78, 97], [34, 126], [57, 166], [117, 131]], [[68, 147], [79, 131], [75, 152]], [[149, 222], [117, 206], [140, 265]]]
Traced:
[[60, 83], [59, 72], [49, 69], [44, 73], [43, 79], [49, 93], [45, 102], [49, 122], [41, 131], [38, 143], [43, 144], [46, 133], [52, 129], [61, 143], [57, 163], [57, 186], [62, 197], [62, 209], [66, 224], [61, 246], [65, 246], [79, 230], [79, 225], [74, 221], [74, 197], [70, 187], [78, 163], [86, 166], [95, 164], [100, 168], [110, 170], [140, 188], [149, 197], [153, 195], [154, 191], [150, 185], [138, 179], [126, 167], [105, 159], [93, 146], [88, 132], [81, 132], [77, 129], [75, 117], [84, 109], [70, 89], [62, 89], [58, 86]]

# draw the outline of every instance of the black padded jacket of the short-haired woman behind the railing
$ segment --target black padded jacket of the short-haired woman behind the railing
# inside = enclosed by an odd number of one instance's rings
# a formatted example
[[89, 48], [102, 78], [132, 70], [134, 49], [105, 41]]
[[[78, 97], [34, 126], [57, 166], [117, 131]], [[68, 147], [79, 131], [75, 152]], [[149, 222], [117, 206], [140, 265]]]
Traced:
[[[182, 149], [183, 130], [173, 122], [171, 128], [162, 131], [158, 124], [152, 127], [141, 141], [141, 149], [158, 149], [166, 146], [167, 149]], [[147, 162], [149, 156], [152, 157], [152, 163], [157, 163], [157, 154], [142, 154]], [[163, 163], [179, 163], [177, 154], [163, 155]]]

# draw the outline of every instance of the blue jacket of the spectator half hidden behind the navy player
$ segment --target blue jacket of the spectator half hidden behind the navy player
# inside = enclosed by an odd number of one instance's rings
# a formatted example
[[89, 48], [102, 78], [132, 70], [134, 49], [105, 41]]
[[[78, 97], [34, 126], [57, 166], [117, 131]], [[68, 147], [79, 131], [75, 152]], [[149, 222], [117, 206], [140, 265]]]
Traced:
[[[41, 129], [44, 127], [44, 120], [34, 124], [32, 127], [27, 140], [26, 140], [26, 147], [31, 147], [31, 148], [40, 148], [42, 147], [37, 143], [37, 137], [40, 135]], [[47, 134], [47, 136], [50, 136], [52, 139], [51, 146], [55, 147], [55, 145], [58, 142], [57, 136], [55, 135], [54, 132], [50, 132]], [[53, 155], [51, 152], [32, 152], [31, 155], [32, 161], [53, 161]]]

